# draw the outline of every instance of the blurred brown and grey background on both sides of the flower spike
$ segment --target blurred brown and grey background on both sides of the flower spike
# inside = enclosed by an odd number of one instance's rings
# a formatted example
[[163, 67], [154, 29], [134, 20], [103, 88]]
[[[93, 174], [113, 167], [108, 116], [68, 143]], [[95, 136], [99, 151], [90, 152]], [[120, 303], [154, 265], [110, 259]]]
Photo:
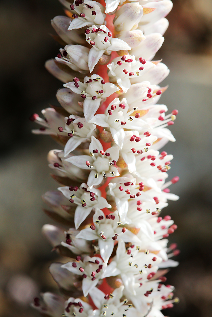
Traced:
[[[171, 126], [177, 141], [164, 150], [174, 155], [169, 171], [180, 181], [171, 192], [169, 214], [178, 225], [170, 242], [178, 243], [180, 262], [167, 274], [180, 303], [164, 311], [170, 317], [210, 317], [212, 311], [212, 1], [173, 0], [170, 26], [155, 59], [163, 58], [170, 75], [160, 103], [179, 114]], [[48, 273], [60, 260], [41, 235], [45, 223], [41, 195], [57, 188], [46, 156], [59, 146], [48, 136], [32, 135], [31, 113], [41, 113], [62, 83], [44, 68], [59, 51], [50, 20], [63, 15], [57, 0], [0, 1], [1, 177], [0, 316], [34, 317], [29, 307], [40, 292], [54, 291]]]

